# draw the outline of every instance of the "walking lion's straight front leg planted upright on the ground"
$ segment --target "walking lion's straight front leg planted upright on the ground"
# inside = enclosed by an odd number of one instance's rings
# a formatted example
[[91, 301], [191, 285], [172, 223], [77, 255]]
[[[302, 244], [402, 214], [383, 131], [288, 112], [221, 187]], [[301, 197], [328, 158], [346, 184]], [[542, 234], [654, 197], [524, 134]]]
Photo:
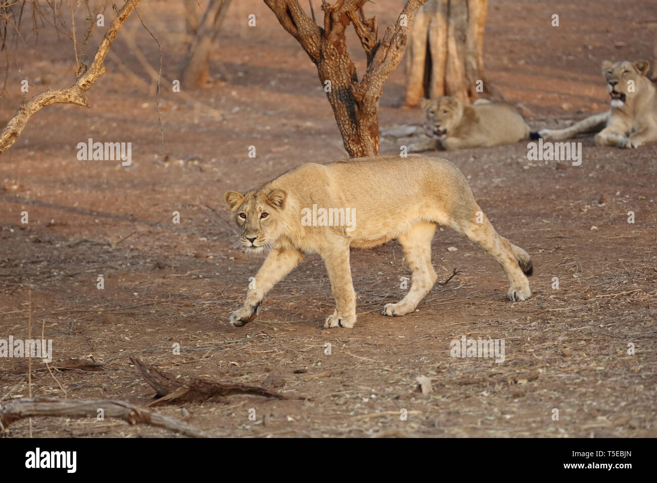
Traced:
[[356, 323], [356, 292], [351, 283], [349, 245], [338, 244], [321, 253], [327, 267], [330, 288], [335, 298], [335, 311], [324, 322], [324, 328], [348, 327]]

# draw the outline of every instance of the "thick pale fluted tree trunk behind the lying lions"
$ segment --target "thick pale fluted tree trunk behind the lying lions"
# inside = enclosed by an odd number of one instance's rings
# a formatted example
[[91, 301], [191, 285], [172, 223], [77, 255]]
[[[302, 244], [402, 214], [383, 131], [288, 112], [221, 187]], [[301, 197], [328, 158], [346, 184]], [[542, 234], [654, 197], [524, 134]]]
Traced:
[[[409, 47], [406, 104], [452, 95], [473, 101], [491, 93], [484, 80], [488, 0], [429, 0], [417, 13]], [[477, 91], [477, 81], [483, 91]]]

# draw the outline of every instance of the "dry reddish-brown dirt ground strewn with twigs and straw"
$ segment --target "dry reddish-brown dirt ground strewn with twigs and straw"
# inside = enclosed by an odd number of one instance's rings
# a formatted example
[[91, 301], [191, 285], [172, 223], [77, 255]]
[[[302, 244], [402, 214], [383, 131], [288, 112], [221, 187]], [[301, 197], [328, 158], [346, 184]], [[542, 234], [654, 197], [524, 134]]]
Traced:
[[[378, 1], [366, 12], [386, 26], [400, 8]], [[138, 57], [157, 69], [158, 49], [133, 15], [112, 47], [120, 62], [108, 58], [89, 91], [91, 108], [44, 108], [0, 157], [0, 338], [27, 338], [31, 314], [33, 338], [43, 330], [53, 340], [52, 373], [34, 362], [34, 396], [146, 405], [154, 390], [131, 365], [136, 354], [181, 380], [264, 382], [299, 398], [237, 395], [154, 408], [220, 436], [656, 435], [657, 145], [595, 147], [585, 135], [581, 166], [530, 162], [526, 143], [445, 155], [497, 231], [532, 254], [526, 302], [506, 300], [493, 258], [445, 229], [433, 242], [434, 265], [442, 279], [460, 273], [412, 315], [379, 315], [403, 296], [400, 277], [408, 275], [390, 242], [352, 252], [354, 329], [321, 329], [333, 300], [317, 256], [271, 290], [257, 321], [229, 327], [261, 259], [235, 248], [223, 193], [346, 152], [313, 64], [261, 1], [233, 2], [212, 60], [215, 80], [183, 86], [186, 97], [170, 83], [185, 54], [181, 8], [145, 1], [139, 12], [162, 44], [164, 154], [154, 83]], [[246, 25], [250, 13], [256, 27]], [[35, 39], [24, 26], [0, 104], [3, 126], [20, 104], [20, 80], [30, 81], [31, 96], [73, 79], [70, 39], [48, 24]], [[651, 59], [655, 30], [657, 3], [649, 0], [491, 1], [487, 74], [524, 103], [533, 127], [565, 124], [606, 108], [600, 62]], [[125, 42], [131, 32], [139, 51]], [[98, 40], [99, 32], [87, 55]], [[362, 73], [364, 56], [350, 40]], [[384, 85], [382, 127], [421, 122], [419, 110], [401, 106], [404, 80], [400, 66]], [[89, 137], [133, 143], [131, 166], [79, 161], [76, 145]], [[381, 152], [399, 150], [382, 140]], [[463, 335], [503, 338], [505, 361], [450, 357], [451, 340]], [[104, 365], [85, 367], [91, 357]], [[419, 376], [433, 392], [420, 392]], [[27, 359], [0, 359], [0, 398], [28, 394]], [[112, 419], [32, 424], [39, 437], [171, 436]], [[29, 434], [27, 420], [4, 432]]]

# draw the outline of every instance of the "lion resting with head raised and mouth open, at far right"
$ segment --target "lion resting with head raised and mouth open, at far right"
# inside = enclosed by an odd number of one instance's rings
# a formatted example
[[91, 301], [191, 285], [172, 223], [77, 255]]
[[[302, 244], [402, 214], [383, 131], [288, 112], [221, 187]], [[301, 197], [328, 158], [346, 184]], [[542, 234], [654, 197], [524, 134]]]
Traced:
[[[542, 129], [543, 139], [570, 139], [580, 133], [595, 135], [599, 146], [638, 148], [657, 141], [657, 89], [646, 78], [648, 61], [602, 62], [607, 92], [612, 96], [610, 110], [595, 114], [565, 129]], [[630, 89], [631, 82], [633, 89]], [[622, 95], [622, 99], [614, 99]]]

